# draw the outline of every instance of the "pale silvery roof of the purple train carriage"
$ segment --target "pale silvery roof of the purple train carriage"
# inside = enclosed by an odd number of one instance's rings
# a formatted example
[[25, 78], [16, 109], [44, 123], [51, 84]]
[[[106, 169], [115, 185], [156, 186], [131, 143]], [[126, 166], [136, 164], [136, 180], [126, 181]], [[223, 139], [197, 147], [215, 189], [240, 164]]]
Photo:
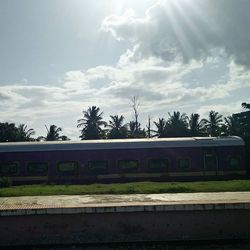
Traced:
[[156, 138], [113, 139], [113, 140], [53, 141], [53, 142], [4, 142], [0, 143], [0, 152], [223, 147], [223, 146], [244, 146], [244, 145], [245, 145], [244, 141], [237, 136], [157, 138], [157, 139]]

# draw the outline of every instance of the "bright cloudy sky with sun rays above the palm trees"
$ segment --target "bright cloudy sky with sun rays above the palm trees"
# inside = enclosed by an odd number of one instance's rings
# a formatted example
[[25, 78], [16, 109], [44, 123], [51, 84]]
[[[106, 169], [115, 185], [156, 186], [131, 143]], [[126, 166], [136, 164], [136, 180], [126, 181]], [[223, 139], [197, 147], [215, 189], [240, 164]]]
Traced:
[[96, 105], [140, 121], [250, 102], [249, 0], [0, 1], [0, 121], [77, 139]]

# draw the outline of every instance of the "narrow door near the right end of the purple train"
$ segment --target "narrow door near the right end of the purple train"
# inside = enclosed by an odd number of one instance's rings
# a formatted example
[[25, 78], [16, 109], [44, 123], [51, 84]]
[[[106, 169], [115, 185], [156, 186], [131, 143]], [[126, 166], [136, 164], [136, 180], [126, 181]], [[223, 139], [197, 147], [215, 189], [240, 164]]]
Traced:
[[204, 175], [218, 175], [218, 156], [215, 149], [204, 150]]

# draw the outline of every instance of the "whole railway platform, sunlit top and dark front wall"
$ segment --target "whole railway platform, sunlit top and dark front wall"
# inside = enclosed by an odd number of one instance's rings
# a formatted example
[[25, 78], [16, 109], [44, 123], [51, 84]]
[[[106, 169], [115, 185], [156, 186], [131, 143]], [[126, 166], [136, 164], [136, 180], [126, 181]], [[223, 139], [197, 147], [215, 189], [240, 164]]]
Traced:
[[0, 197], [0, 246], [250, 239], [250, 192]]

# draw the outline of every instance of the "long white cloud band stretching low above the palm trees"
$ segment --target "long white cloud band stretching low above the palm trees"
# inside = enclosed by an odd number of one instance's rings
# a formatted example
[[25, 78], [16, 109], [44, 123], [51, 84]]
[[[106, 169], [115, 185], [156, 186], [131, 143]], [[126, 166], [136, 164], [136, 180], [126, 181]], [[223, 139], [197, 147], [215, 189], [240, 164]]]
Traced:
[[[202, 70], [208, 62], [191, 61], [189, 64], [166, 64], [162, 60], [142, 60], [124, 66], [97, 66], [86, 71], [71, 71], [65, 74], [60, 87], [36, 85], [10, 85], [1, 87], [7, 95], [0, 112], [5, 119], [41, 120], [70, 116], [74, 121], [81, 111], [97, 105], [110, 114], [123, 110], [128, 114], [130, 98], [138, 96], [142, 116], [165, 114], [182, 107], [208, 106], [211, 101], [223, 100], [242, 87], [249, 89], [250, 74], [242, 66], [229, 63], [228, 80], [214, 82], [209, 86], [192, 86], [183, 82], [183, 77], [193, 70]], [[216, 60], [213, 61], [216, 64]], [[105, 80], [101, 87], [96, 81]], [[4, 92], [3, 92], [4, 90]], [[7, 93], [7, 94], [6, 94]], [[213, 106], [212, 106], [213, 107]], [[236, 108], [239, 110], [240, 105]], [[107, 111], [106, 111], [107, 110]], [[159, 111], [159, 112], [158, 112]], [[71, 118], [72, 119], [72, 118]], [[74, 124], [75, 126], [76, 124]]]

